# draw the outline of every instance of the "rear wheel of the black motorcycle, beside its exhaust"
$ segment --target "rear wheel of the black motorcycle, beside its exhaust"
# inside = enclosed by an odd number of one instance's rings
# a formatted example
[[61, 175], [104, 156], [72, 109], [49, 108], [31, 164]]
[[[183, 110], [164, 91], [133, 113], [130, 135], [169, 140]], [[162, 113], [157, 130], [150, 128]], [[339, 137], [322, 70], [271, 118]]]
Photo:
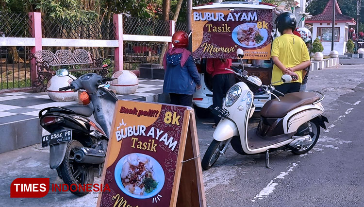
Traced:
[[[60, 171], [63, 181], [68, 185], [71, 193], [77, 196], [84, 196], [88, 192], [83, 191], [79, 184], [86, 186], [94, 183], [94, 172], [92, 166], [77, 163], [74, 160], [74, 154], [80, 150], [83, 145], [77, 140], [71, 140], [67, 143], [66, 155], [60, 165]], [[72, 185], [71, 184], [76, 184]]]

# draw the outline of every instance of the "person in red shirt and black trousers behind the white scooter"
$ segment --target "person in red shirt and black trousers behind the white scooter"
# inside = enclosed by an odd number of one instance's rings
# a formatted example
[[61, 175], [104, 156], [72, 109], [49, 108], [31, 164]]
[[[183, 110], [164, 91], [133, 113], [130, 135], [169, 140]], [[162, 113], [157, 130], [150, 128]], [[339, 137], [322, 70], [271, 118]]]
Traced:
[[[206, 71], [213, 76], [213, 107], [222, 108], [222, 99], [225, 97], [229, 88], [235, 84], [235, 76], [230, 69], [232, 59], [212, 58], [207, 59]], [[214, 116], [215, 125], [220, 121], [220, 118]]]

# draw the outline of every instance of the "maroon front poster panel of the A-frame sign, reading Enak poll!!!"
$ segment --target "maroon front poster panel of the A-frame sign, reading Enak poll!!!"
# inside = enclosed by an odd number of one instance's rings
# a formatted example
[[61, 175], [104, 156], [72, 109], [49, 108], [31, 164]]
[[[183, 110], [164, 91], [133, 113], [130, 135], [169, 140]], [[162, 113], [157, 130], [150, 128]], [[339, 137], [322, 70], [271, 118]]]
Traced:
[[118, 101], [100, 207], [171, 204], [187, 107]]

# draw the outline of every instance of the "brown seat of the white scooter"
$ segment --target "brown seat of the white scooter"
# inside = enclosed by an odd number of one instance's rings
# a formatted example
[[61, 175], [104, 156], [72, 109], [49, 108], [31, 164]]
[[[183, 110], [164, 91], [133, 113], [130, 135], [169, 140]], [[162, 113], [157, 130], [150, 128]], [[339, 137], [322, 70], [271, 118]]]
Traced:
[[264, 104], [261, 116], [267, 118], [282, 118], [289, 111], [302, 105], [312, 104], [320, 97], [314, 92], [287, 93], [284, 97], [273, 99]]

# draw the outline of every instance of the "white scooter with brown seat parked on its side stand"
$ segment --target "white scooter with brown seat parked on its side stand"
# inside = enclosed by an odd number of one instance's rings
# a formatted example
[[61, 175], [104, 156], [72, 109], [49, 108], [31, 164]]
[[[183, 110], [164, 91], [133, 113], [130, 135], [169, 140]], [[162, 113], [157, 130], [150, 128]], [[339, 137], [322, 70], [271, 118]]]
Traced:
[[[240, 52], [240, 53], [239, 53]], [[244, 55], [238, 50], [238, 57]], [[244, 69], [231, 67], [241, 82], [232, 86], [220, 109], [213, 113], [221, 118], [214, 132], [214, 140], [202, 159], [202, 168], [211, 168], [216, 160], [224, 155], [231, 144], [241, 155], [265, 153], [265, 167], [269, 167], [269, 152], [275, 150], [305, 154], [316, 144], [320, 126], [326, 129], [328, 119], [321, 114], [324, 107], [320, 103], [325, 95], [318, 91], [296, 92], [283, 95], [274, 86], [264, 86], [256, 76], [248, 76]], [[281, 81], [291, 82], [290, 75], [283, 75]], [[274, 83], [272, 83], [274, 84]], [[248, 129], [248, 119], [254, 112], [254, 92], [259, 88], [276, 99], [268, 101], [261, 110], [258, 126]], [[274, 93], [281, 94], [277, 97]], [[319, 97], [320, 95], [321, 97]]]

